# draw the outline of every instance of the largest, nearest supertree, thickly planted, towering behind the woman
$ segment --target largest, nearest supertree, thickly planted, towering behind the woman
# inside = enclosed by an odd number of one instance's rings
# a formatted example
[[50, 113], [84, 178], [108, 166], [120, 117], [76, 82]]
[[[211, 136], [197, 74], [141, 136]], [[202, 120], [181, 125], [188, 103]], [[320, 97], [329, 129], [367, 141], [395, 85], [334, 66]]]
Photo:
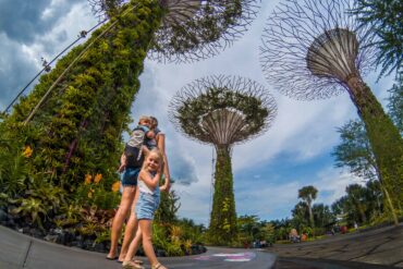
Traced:
[[[255, 0], [90, 0], [106, 23], [13, 107], [3, 124], [34, 148], [34, 170], [68, 189], [90, 172], [115, 178], [121, 132], [147, 54], [161, 62], [212, 57], [242, 36]], [[85, 35], [85, 33], [83, 33]]]

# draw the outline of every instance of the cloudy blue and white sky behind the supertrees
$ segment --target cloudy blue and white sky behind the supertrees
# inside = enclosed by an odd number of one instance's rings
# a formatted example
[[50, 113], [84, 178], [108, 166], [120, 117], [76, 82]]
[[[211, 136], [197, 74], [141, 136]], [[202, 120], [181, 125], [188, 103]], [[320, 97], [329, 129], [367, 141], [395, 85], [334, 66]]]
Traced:
[[[340, 144], [337, 129], [357, 119], [346, 93], [326, 100], [298, 101], [279, 94], [264, 77], [259, 46], [265, 22], [278, 0], [261, 1], [261, 9], [245, 35], [219, 56], [195, 63], [161, 64], [146, 60], [141, 90], [132, 105], [134, 122], [151, 114], [167, 134], [167, 154], [173, 189], [180, 196], [179, 217], [208, 224], [212, 200], [213, 148], [186, 138], [168, 120], [168, 106], [183, 86], [209, 75], [234, 75], [256, 81], [274, 97], [278, 115], [271, 127], [253, 140], [235, 145], [232, 169], [236, 212], [260, 220], [291, 217], [297, 191], [314, 185], [315, 203], [331, 205], [345, 186], [363, 183], [347, 169], [334, 167], [331, 156]], [[0, 0], [0, 109], [51, 60], [97, 24], [86, 0]], [[364, 80], [386, 107], [392, 78]], [[32, 87], [30, 87], [32, 88]], [[29, 88], [29, 89], [30, 89]], [[27, 90], [27, 93], [29, 91]], [[134, 126], [134, 125], [133, 125]]]

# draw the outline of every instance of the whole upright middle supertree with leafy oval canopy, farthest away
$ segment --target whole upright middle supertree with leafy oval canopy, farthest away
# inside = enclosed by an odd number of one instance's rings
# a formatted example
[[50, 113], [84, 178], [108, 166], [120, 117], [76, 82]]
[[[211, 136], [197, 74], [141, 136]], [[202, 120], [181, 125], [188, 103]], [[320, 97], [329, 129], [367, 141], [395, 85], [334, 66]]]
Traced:
[[236, 240], [231, 151], [264, 133], [277, 114], [271, 95], [248, 78], [209, 76], [184, 86], [170, 102], [179, 132], [216, 148], [215, 193], [209, 237], [218, 245]]

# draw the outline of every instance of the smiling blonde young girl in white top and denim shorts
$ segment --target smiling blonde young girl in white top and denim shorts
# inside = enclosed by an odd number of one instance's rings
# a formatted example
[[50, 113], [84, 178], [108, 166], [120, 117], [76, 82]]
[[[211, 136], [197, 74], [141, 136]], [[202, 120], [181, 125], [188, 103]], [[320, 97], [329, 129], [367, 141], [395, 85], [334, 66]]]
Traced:
[[123, 261], [124, 269], [144, 268], [131, 259], [139, 246], [139, 237], [143, 237], [143, 248], [151, 264], [151, 269], [167, 269], [158, 262], [152, 247], [152, 219], [160, 200], [159, 179], [161, 178], [163, 157], [157, 148], [149, 151], [138, 175], [138, 200], [135, 207], [136, 221], [138, 221], [142, 236], [136, 236], [130, 244]]

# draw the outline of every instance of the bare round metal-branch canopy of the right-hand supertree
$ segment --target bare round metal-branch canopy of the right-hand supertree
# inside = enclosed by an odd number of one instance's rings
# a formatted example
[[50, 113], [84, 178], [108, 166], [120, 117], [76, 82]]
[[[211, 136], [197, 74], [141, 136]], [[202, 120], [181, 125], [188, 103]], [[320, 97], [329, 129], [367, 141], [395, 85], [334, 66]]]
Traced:
[[350, 11], [353, 0], [285, 0], [269, 16], [260, 63], [280, 93], [300, 100], [337, 96], [373, 66], [375, 40]]

